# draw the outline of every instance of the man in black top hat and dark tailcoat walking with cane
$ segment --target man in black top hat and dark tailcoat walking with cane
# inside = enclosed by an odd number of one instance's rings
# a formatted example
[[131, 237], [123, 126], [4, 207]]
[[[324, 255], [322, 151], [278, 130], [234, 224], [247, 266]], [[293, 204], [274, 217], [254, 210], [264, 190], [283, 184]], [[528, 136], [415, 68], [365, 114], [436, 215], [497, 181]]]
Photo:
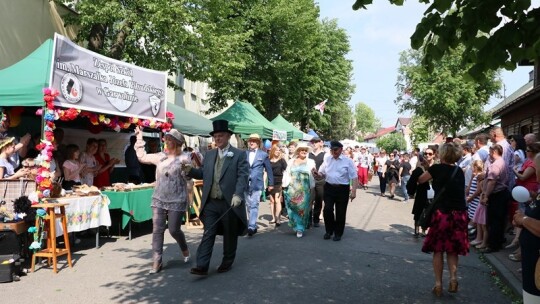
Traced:
[[217, 271], [227, 272], [236, 257], [238, 236], [247, 228], [246, 208], [242, 198], [247, 190], [249, 164], [246, 153], [231, 146], [229, 122], [216, 120], [210, 133], [217, 149], [206, 152], [201, 168], [186, 167], [189, 177], [203, 180], [200, 219], [204, 224], [197, 249], [195, 275], [207, 275], [216, 235], [223, 235], [223, 259]]

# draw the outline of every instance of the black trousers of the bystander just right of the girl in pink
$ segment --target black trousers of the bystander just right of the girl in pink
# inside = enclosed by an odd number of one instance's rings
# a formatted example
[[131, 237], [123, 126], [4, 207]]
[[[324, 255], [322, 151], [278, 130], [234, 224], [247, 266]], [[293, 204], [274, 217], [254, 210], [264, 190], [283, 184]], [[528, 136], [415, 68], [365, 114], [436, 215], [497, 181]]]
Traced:
[[510, 193], [508, 190], [491, 193], [488, 197], [486, 224], [488, 246], [492, 250], [499, 250], [504, 243], [504, 227], [506, 225], [509, 200]]

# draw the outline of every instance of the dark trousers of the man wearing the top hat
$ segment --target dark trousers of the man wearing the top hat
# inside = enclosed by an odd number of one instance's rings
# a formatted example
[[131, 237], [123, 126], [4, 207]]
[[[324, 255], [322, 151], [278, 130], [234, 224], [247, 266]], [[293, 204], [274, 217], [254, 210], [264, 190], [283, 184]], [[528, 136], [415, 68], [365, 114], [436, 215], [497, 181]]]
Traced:
[[[227, 211], [228, 210], [228, 211]], [[221, 219], [219, 219], [225, 214]], [[201, 215], [204, 224], [204, 233], [201, 244], [197, 249], [197, 267], [208, 270], [210, 258], [218, 234], [218, 228], [223, 231], [223, 260], [222, 264], [231, 265], [236, 257], [238, 245], [238, 221], [234, 211], [229, 210], [229, 204], [225, 200], [209, 199]]]

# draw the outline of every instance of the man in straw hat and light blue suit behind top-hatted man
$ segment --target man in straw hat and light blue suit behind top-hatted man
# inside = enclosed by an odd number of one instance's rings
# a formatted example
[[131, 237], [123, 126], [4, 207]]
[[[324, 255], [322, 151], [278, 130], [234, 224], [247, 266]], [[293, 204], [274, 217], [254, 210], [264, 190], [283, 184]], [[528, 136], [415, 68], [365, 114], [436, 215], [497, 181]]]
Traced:
[[268, 190], [274, 188], [274, 174], [270, 165], [268, 154], [261, 149], [261, 137], [259, 134], [251, 134], [248, 139], [246, 156], [249, 162], [249, 184], [245, 193], [246, 206], [248, 209], [248, 235], [257, 233], [257, 218], [259, 216], [259, 202], [264, 189], [264, 171], [268, 176]]

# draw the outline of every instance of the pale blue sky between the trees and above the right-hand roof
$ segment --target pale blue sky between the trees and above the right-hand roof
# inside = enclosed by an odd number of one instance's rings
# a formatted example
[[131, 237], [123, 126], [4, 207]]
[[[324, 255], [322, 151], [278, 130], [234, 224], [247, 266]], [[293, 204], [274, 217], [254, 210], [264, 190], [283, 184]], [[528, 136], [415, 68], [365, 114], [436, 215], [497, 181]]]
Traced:
[[[399, 68], [399, 53], [410, 48], [410, 36], [422, 19], [425, 7], [418, 1], [406, 1], [403, 6], [391, 5], [388, 0], [375, 0], [367, 10], [353, 11], [354, 0], [319, 0], [321, 18], [337, 19], [349, 35], [353, 60], [353, 83], [356, 91], [350, 104], [364, 102], [382, 121], [383, 127], [395, 124], [398, 114], [394, 104], [395, 83]], [[506, 96], [529, 80], [532, 67], [503, 71], [501, 78]], [[501, 92], [502, 94], [502, 92]], [[493, 99], [489, 107], [500, 99]], [[331, 101], [329, 101], [331, 102]]]

